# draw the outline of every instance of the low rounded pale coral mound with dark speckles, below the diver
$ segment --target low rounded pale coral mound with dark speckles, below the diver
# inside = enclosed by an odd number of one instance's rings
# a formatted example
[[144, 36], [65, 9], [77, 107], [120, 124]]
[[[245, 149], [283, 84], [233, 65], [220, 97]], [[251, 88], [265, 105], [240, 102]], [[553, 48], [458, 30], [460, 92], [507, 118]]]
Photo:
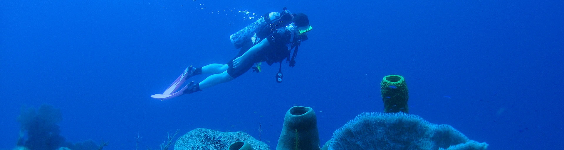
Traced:
[[261, 142], [242, 131], [222, 132], [204, 128], [197, 128], [184, 134], [174, 144], [174, 149], [224, 150], [237, 141], [249, 143], [255, 150], [270, 150], [265, 142]]

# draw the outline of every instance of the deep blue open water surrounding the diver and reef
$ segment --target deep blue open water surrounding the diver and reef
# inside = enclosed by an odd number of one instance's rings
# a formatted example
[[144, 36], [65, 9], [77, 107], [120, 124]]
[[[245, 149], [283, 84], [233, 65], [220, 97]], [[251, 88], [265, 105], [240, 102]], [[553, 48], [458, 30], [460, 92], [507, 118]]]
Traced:
[[[159, 101], [190, 65], [226, 63], [229, 35], [288, 7], [314, 29], [296, 67]], [[23, 106], [60, 108], [61, 135], [158, 148], [167, 132], [245, 131], [275, 149], [284, 113], [314, 108], [321, 144], [402, 75], [409, 113], [490, 149], [564, 149], [564, 1], [14, 1], [0, 3], [0, 149]], [[249, 11], [250, 16], [239, 11]], [[201, 81], [205, 76], [191, 78]]]

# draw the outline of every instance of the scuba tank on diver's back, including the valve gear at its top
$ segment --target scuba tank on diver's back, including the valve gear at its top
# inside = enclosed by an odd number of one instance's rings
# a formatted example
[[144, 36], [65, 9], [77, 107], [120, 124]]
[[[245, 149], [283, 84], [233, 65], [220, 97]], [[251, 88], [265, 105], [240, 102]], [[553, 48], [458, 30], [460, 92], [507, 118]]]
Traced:
[[[272, 32], [272, 29], [276, 30], [280, 25], [291, 23], [293, 19], [292, 13], [286, 10], [286, 7], [284, 7], [283, 10], [284, 11], [282, 13], [267, 13], [252, 24], [237, 31], [236, 33], [231, 34], [231, 36], [229, 36], [231, 43], [233, 43], [237, 49], [243, 47], [248, 40], [252, 40], [252, 43], [255, 44], [260, 40], [258, 38], [262, 37], [261, 35], [266, 36], [266, 34], [270, 34], [270, 32]], [[268, 29], [271, 31], [268, 31]]]

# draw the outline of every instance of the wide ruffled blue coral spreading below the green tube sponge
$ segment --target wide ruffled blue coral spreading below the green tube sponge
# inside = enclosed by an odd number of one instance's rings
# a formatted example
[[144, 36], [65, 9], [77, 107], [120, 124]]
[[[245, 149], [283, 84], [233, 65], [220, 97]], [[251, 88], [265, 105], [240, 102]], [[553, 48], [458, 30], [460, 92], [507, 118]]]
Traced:
[[474, 149], [487, 148], [486, 143], [469, 140], [450, 125], [431, 124], [416, 115], [364, 112], [334, 132], [328, 149], [466, 148], [466, 145], [456, 146], [464, 143], [475, 145]]

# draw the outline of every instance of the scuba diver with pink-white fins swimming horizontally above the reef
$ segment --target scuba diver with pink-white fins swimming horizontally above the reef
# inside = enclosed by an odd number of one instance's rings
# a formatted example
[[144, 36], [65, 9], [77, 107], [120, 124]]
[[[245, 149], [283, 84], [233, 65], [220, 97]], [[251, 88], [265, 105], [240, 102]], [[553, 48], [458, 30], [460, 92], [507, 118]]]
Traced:
[[[283, 8], [282, 12], [270, 12], [262, 16], [249, 26], [230, 36], [231, 43], [240, 49], [239, 54], [226, 64], [211, 63], [203, 67], [189, 66], [173, 84], [162, 94], [154, 94], [156, 99], [170, 99], [183, 94], [191, 94], [214, 85], [226, 83], [243, 75], [253, 68], [254, 72], [261, 71], [261, 63], [268, 65], [279, 62], [280, 69], [276, 74], [276, 81], [282, 82], [282, 61], [286, 60], [290, 67], [294, 67], [296, 54], [301, 42], [307, 40], [307, 33], [312, 29], [303, 13], [290, 13]], [[293, 51], [292, 56], [290, 53]], [[186, 87], [178, 90], [184, 81], [192, 76], [212, 74], [200, 83], [190, 81]]]

